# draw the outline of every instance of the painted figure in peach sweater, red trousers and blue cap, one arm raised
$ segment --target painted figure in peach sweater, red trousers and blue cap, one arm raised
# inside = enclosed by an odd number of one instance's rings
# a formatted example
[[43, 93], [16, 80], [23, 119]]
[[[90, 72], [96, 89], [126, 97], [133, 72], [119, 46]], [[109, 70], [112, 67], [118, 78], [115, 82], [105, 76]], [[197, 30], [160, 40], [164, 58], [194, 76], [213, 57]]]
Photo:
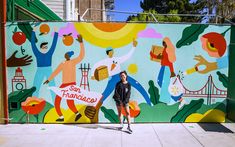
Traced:
[[[82, 36], [78, 36], [77, 40], [79, 41], [81, 48], [79, 56], [74, 59], [71, 59], [71, 57], [74, 55], [74, 52], [69, 51], [65, 53], [64, 57], [66, 60], [60, 63], [60, 65], [55, 69], [51, 76], [44, 82], [44, 84], [48, 84], [54, 79], [55, 76], [62, 72], [62, 84], [60, 85], [60, 88], [64, 88], [70, 85], [76, 85], [76, 65], [80, 63], [85, 56], [85, 49], [82, 41]], [[61, 99], [62, 98], [58, 95], [55, 98], [55, 109], [57, 114], [59, 115], [59, 118], [56, 121], [59, 122], [64, 121], [64, 116], [60, 108]], [[74, 100], [67, 99], [67, 104], [69, 108], [74, 112], [75, 121], [77, 121], [82, 115], [78, 112], [74, 104]]]

